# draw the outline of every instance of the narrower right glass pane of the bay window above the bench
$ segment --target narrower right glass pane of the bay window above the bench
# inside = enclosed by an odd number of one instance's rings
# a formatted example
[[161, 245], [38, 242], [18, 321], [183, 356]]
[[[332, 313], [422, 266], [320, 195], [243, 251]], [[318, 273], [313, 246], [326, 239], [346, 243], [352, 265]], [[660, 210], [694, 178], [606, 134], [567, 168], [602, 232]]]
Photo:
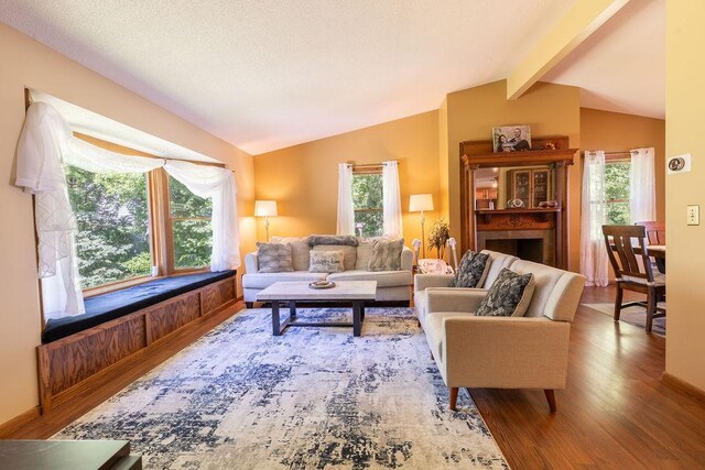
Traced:
[[210, 199], [204, 199], [169, 177], [174, 269], [203, 267], [210, 262]]

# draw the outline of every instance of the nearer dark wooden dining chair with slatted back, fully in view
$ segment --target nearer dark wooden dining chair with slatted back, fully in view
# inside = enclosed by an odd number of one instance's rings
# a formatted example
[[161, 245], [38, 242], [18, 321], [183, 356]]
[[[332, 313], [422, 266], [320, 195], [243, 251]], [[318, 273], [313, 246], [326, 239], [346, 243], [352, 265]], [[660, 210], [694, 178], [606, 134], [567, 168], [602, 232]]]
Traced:
[[[622, 308], [639, 305], [647, 308], [647, 332], [651, 332], [653, 319], [665, 316], [659, 300], [665, 298], [665, 275], [654, 270], [649, 256], [647, 229], [643, 226], [603, 226], [609, 263], [615, 271], [617, 297], [615, 321], [619, 321]], [[632, 244], [637, 241], [637, 245]], [[622, 304], [623, 291], [647, 295], [647, 302]]]

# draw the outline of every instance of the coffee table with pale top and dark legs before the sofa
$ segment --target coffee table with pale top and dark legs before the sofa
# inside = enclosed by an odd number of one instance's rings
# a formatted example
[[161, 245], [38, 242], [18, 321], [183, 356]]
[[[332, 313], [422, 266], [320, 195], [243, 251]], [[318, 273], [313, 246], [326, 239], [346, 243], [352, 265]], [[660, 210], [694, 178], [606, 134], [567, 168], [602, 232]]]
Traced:
[[[365, 320], [365, 302], [375, 300], [377, 281], [339, 281], [332, 288], [311, 288], [308, 282], [278, 282], [257, 294], [258, 302], [272, 305], [272, 335], [280, 336], [289, 327], [352, 327], [360, 336]], [[352, 323], [296, 320], [296, 303], [351, 303]], [[281, 321], [279, 308], [289, 304], [289, 318]]]

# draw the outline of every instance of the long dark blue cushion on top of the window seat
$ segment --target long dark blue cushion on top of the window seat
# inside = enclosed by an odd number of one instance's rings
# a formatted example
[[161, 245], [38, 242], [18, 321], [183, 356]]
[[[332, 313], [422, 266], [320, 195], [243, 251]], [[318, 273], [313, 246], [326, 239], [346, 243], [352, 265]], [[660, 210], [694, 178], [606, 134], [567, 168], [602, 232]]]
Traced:
[[121, 291], [86, 298], [86, 313], [84, 315], [46, 321], [42, 335], [42, 343], [56, 341], [189, 291], [232, 277], [235, 274], [236, 271], [220, 271], [217, 273], [208, 272], [163, 277]]

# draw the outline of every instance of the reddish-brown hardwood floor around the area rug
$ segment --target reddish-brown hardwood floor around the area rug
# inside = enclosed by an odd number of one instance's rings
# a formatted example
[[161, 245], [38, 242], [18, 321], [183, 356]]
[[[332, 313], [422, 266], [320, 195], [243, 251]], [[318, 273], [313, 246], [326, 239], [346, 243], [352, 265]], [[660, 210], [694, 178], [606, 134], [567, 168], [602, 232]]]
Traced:
[[[583, 302], [609, 303], [614, 295], [614, 288], [587, 288]], [[239, 303], [217, 320], [241, 308]], [[105, 390], [6, 437], [53, 435], [205, 331], [184, 336], [178, 347]], [[556, 414], [549, 413], [542, 391], [470, 391], [512, 469], [705, 468], [705, 403], [661, 383], [663, 338], [581, 306], [570, 361], [567, 387], [555, 393]]]

